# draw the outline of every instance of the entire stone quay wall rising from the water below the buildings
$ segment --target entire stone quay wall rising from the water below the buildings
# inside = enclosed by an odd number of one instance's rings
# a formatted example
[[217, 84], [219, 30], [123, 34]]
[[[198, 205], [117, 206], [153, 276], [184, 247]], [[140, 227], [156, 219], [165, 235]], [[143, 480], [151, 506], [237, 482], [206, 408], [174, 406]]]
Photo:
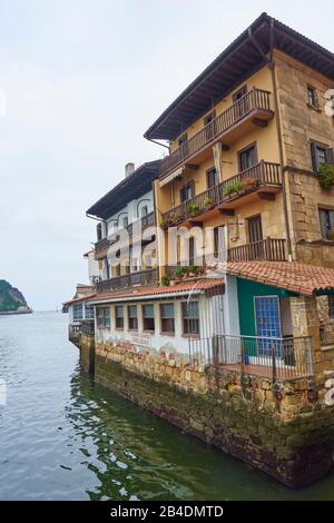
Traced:
[[308, 484], [332, 467], [334, 372], [326, 371], [317, 387], [310, 379], [273, 384], [190, 365], [177, 354], [97, 344], [95, 377], [288, 486]]

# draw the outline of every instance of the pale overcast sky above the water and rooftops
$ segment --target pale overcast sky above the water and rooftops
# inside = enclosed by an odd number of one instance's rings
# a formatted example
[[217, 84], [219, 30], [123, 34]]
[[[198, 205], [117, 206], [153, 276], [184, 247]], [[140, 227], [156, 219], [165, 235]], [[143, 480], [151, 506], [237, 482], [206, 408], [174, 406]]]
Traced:
[[0, 279], [35, 309], [87, 283], [86, 209], [161, 157], [144, 131], [263, 11], [333, 50], [330, 0], [0, 0]]

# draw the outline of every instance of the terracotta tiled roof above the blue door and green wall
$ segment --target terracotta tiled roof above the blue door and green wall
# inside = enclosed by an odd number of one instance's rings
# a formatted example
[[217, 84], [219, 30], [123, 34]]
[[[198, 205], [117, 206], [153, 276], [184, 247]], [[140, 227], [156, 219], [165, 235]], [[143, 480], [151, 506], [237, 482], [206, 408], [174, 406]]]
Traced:
[[334, 290], [334, 269], [296, 262], [235, 262], [226, 273], [306, 296]]

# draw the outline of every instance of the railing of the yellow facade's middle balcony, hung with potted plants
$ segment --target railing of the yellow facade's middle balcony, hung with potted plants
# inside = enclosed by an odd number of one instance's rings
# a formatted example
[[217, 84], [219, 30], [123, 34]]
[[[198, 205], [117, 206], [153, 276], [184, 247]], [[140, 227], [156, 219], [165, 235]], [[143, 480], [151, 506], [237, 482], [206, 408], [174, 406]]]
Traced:
[[[232, 193], [232, 187], [236, 181], [243, 181], [243, 187], [236, 193]], [[196, 218], [203, 213], [234, 199], [240, 198], [249, 193], [259, 190], [262, 187], [281, 187], [282, 177], [279, 164], [272, 164], [262, 160], [259, 164], [243, 170], [227, 180], [217, 184], [215, 187], [200, 193], [183, 204], [164, 213], [163, 226], [168, 227], [177, 225], [186, 219]], [[230, 189], [228, 193], [227, 189]]]

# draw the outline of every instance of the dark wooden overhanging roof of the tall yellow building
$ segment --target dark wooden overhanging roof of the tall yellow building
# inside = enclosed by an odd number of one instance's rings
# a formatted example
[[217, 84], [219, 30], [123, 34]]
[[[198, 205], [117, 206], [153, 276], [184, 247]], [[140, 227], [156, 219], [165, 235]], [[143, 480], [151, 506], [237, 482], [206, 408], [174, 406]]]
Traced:
[[[272, 33], [273, 27], [273, 33]], [[262, 13], [159, 116], [145, 132], [149, 139], [174, 140], [204, 112], [264, 66], [272, 48], [289, 55], [334, 80], [334, 55], [284, 23]], [[173, 63], [173, 62], [171, 62]]]

